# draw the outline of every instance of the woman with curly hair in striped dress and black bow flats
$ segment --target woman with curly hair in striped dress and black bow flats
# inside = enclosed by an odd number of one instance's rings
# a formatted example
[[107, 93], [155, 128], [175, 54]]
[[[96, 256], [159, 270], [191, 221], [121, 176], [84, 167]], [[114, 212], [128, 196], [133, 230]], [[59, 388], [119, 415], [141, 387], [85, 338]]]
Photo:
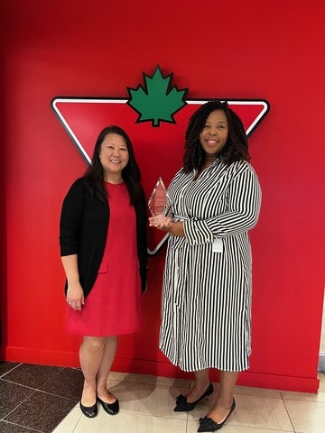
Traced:
[[168, 188], [171, 211], [150, 226], [170, 233], [163, 276], [160, 349], [195, 384], [175, 411], [192, 410], [213, 392], [216, 401], [198, 431], [221, 428], [235, 409], [238, 372], [251, 353], [251, 248], [261, 190], [244, 126], [227, 102], [209, 101], [190, 117], [183, 167]]

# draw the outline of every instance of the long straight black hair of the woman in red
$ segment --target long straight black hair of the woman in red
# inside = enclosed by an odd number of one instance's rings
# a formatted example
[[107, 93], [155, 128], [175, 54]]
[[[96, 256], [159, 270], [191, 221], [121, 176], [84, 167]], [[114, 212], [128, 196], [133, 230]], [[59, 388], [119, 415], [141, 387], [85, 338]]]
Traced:
[[96, 195], [101, 200], [107, 200], [107, 191], [104, 186], [104, 170], [99, 160], [100, 147], [107, 134], [118, 134], [125, 139], [129, 160], [122, 170], [122, 178], [129, 191], [131, 203], [135, 205], [136, 202], [144, 199], [144, 190], [140, 184], [141, 173], [135, 160], [135, 152], [130, 137], [125, 133], [124, 129], [120, 126], [116, 126], [116, 124], [107, 126], [98, 135], [91, 158], [91, 164], [83, 175], [83, 180], [92, 195]]

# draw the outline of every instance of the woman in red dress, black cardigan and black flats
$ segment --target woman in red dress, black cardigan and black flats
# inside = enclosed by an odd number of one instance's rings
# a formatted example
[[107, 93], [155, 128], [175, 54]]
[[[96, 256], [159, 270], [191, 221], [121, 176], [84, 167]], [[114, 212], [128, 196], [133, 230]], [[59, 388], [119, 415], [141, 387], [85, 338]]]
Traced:
[[130, 138], [119, 126], [99, 135], [92, 163], [75, 180], [60, 215], [60, 256], [66, 274], [67, 331], [83, 336], [80, 409], [88, 418], [98, 402], [119, 410], [107, 390], [119, 335], [141, 327], [147, 269], [146, 200]]

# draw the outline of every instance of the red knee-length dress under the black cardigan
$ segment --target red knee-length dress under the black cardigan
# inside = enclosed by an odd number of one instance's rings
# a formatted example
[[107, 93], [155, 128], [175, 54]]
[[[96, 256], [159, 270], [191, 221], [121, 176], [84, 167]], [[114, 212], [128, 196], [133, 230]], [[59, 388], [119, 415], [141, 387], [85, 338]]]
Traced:
[[67, 331], [82, 336], [130, 334], [141, 327], [141, 280], [135, 208], [125, 183], [106, 182], [107, 244], [98, 277], [81, 311], [67, 310]]

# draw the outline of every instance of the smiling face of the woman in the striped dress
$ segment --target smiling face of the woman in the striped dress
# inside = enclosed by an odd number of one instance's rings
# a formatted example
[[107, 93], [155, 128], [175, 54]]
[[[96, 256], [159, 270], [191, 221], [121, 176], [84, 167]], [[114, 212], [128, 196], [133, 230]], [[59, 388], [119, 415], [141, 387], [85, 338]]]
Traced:
[[200, 143], [206, 158], [217, 157], [228, 139], [228, 120], [223, 110], [215, 110], [209, 114], [201, 132]]

